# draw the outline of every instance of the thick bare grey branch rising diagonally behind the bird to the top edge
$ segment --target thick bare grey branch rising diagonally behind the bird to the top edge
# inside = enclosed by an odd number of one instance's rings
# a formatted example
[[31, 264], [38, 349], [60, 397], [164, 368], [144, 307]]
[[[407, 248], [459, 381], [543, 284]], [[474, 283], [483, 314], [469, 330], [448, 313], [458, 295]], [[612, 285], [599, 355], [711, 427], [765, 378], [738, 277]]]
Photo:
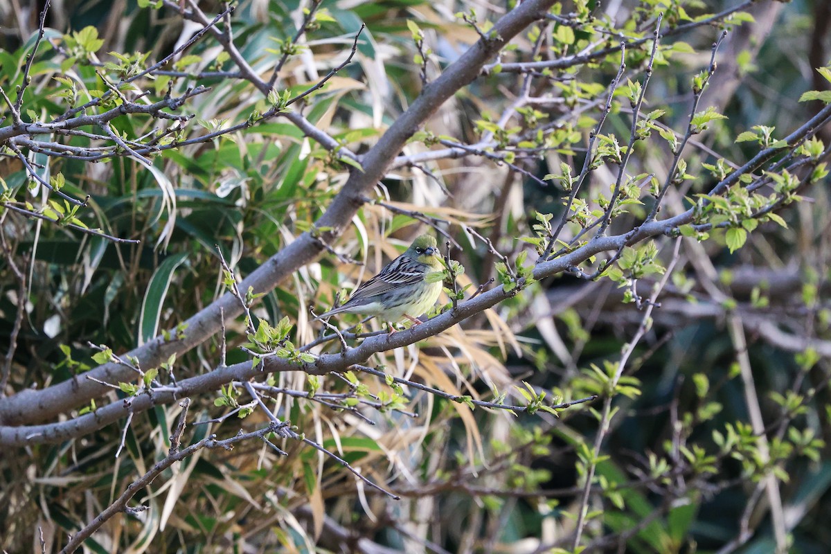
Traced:
[[[317, 222], [318, 227], [332, 228], [327, 233], [320, 233], [325, 241], [332, 242], [342, 234], [352, 216], [361, 207], [362, 197], [384, 176], [393, 159], [406, 145], [406, 141], [421, 125], [456, 91], [474, 81], [487, 61], [511, 38], [543, 17], [553, 3], [554, 0], [523, 2], [496, 22], [491, 38], [476, 42], [454, 64], [445, 69], [442, 76], [425, 87], [419, 98], [366, 153], [362, 159], [363, 171], [352, 171], [347, 184]], [[303, 233], [252, 272], [239, 287], [243, 291], [252, 287], [255, 293], [271, 291], [297, 268], [312, 262], [322, 251], [323, 246], [318, 238], [312, 237], [311, 233]], [[225, 321], [230, 321], [238, 316], [240, 311], [237, 299], [231, 294], [225, 294], [185, 321], [187, 331], [181, 339], [165, 341], [159, 336], [127, 355], [137, 358], [141, 367], [155, 367], [167, 360], [170, 355], [181, 355], [206, 341], [219, 331], [223, 316]], [[19, 425], [50, 419], [107, 392], [105, 386], [86, 379], [86, 375], [110, 383], [127, 380], [131, 376], [130, 370], [125, 367], [109, 363], [47, 389], [22, 390], [17, 395], [0, 399], [0, 423]], [[226, 380], [217, 382], [227, 382], [227, 377]], [[73, 421], [76, 422], [77, 419]]]

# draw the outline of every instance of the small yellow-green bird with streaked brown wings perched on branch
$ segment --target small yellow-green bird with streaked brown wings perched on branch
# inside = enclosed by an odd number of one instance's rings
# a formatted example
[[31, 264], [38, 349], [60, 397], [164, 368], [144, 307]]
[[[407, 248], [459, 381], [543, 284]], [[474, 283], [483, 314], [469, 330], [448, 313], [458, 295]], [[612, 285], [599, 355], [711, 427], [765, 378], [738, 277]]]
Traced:
[[421, 321], [416, 317], [430, 310], [441, 294], [441, 280], [428, 282], [427, 275], [442, 268], [435, 238], [420, 235], [401, 256], [357, 287], [342, 306], [332, 308], [312, 321], [340, 313], [377, 316], [386, 321], [390, 334], [396, 332], [392, 324], [405, 317], [418, 325]]

